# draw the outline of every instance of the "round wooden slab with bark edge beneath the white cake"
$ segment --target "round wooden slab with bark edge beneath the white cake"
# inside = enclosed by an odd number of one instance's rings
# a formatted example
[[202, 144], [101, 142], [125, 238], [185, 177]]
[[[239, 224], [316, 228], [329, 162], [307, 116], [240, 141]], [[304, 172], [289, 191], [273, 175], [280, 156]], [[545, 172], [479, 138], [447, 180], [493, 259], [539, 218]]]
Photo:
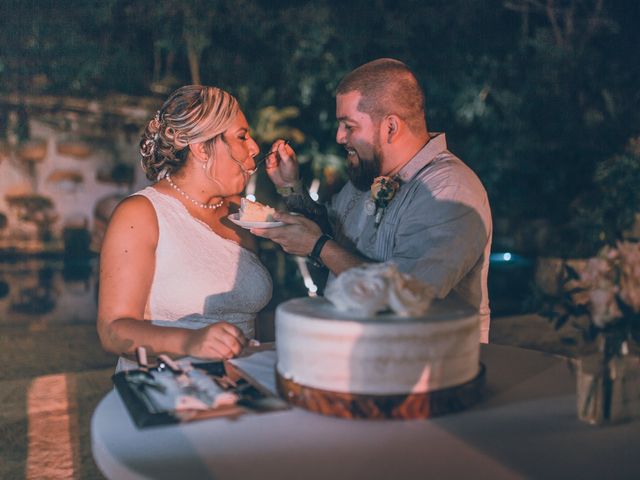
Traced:
[[288, 380], [277, 369], [276, 386], [278, 393], [290, 404], [323, 415], [368, 419], [431, 418], [464, 410], [480, 401], [484, 392], [485, 371], [484, 365], [480, 364], [478, 375], [462, 385], [401, 395], [319, 390]]

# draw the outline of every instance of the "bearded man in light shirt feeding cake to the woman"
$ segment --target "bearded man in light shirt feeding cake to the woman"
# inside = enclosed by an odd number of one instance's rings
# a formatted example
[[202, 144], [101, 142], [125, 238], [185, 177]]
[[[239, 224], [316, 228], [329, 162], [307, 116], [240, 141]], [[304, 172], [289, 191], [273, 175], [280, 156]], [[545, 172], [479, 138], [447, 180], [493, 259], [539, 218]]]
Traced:
[[304, 216], [279, 213], [285, 226], [252, 232], [326, 266], [331, 277], [393, 261], [438, 297], [455, 291], [477, 308], [487, 342], [489, 201], [475, 173], [447, 150], [444, 133], [428, 132], [415, 75], [387, 58], [360, 66], [338, 85], [336, 117], [350, 181], [326, 208], [318, 205], [300, 182], [295, 153], [277, 141], [267, 173], [289, 210]]

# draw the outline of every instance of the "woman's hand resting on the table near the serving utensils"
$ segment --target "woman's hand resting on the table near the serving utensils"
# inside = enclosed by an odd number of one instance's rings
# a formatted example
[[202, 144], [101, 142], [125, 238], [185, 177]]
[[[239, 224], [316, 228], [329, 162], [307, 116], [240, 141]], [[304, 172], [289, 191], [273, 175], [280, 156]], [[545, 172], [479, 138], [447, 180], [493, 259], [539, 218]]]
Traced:
[[238, 355], [246, 344], [247, 339], [238, 327], [218, 322], [193, 330], [185, 350], [192, 357], [227, 359]]

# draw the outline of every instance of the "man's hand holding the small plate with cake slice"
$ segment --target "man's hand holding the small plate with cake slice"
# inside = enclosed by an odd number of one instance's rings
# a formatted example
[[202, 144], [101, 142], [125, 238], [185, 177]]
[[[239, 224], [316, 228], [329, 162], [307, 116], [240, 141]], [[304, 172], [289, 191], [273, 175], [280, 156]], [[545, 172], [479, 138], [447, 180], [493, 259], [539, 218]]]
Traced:
[[302, 215], [278, 212], [274, 215], [274, 220], [284, 222], [286, 225], [275, 228], [252, 228], [251, 233], [273, 240], [285, 252], [292, 255], [306, 257], [322, 235], [320, 227]]

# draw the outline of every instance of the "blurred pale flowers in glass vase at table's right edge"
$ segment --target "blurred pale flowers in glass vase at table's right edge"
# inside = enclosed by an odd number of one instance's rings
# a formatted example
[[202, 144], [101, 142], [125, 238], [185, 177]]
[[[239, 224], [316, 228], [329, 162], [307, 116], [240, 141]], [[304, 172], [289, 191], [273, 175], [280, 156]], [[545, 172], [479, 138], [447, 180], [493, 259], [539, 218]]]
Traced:
[[556, 329], [571, 320], [584, 346], [597, 346], [576, 361], [578, 418], [594, 425], [640, 418], [640, 243], [618, 241], [579, 268], [565, 265], [550, 306]]

